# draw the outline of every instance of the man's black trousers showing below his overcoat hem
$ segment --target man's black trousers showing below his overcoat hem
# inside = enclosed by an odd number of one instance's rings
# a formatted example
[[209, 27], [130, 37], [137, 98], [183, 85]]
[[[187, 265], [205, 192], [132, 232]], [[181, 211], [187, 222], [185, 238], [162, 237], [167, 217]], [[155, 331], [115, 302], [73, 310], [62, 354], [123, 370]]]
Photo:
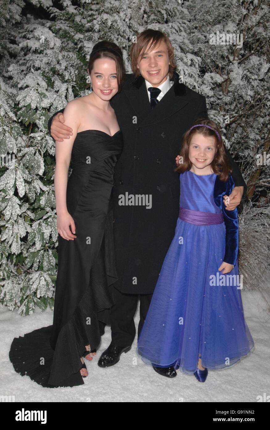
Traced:
[[[138, 337], [140, 336], [144, 320], [153, 294], [140, 294], [140, 322]], [[135, 338], [136, 328], [134, 315], [137, 310], [138, 294], [124, 294], [113, 289], [114, 305], [111, 308], [112, 343], [122, 347], [130, 346]]]

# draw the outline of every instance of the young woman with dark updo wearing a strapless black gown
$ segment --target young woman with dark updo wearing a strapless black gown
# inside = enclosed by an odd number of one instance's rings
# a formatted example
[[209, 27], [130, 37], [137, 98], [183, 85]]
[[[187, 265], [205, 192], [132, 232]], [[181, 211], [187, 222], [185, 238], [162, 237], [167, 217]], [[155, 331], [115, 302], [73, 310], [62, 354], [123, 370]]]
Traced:
[[97, 43], [88, 73], [92, 92], [64, 110], [73, 129], [70, 140], [55, 144], [58, 273], [53, 325], [14, 338], [9, 352], [16, 372], [43, 387], [84, 384], [88, 373], [82, 357], [93, 359], [103, 323], [109, 323], [117, 279], [112, 187], [123, 142], [109, 100], [123, 83], [121, 49]]

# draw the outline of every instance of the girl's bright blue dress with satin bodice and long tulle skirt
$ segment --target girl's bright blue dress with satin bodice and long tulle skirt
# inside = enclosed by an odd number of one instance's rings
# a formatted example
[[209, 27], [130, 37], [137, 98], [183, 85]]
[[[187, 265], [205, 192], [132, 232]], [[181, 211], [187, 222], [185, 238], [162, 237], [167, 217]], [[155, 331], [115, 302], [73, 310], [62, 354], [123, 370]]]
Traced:
[[[180, 175], [180, 210], [211, 212], [215, 173]], [[254, 346], [241, 300], [238, 261], [230, 273], [218, 267], [225, 252], [225, 224], [196, 225], [178, 218], [141, 330], [137, 353], [146, 364], [173, 365], [185, 373], [197, 370], [198, 358], [208, 369], [237, 362]], [[218, 278], [219, 277], [219, 278]], [[224, 285], [225, 284], [225, 285]]]

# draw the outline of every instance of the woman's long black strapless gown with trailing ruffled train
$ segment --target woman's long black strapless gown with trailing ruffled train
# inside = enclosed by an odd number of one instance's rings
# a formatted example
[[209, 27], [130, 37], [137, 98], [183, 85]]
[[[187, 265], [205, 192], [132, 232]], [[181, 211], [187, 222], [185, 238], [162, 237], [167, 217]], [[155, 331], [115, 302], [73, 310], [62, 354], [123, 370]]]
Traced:
[[113, 136], [85, 130], [75, 138], [67, 181], [67, 210], [76, 239], [58, 234], [58, 273], [53, 325], [12, 341], [9, 358], [16, 372], [43, 387], [84, 384], [79, 370], [85, 345], [100, 343], [100, 321], [110, 323], [112, 284], [118, 279], [113, 246], [114, 166], [123, 148]]

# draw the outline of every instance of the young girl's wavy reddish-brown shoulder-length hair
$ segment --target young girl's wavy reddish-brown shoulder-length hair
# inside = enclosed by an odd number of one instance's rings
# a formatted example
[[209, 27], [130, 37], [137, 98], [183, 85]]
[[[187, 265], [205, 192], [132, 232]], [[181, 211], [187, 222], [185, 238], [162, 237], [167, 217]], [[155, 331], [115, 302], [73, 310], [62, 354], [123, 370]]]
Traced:
[[218, 134], [220, 135], [220, 139], [216, 135], [216, 133], [209, 129], [208, 127], [199, 126], [195, 127], [192, 130], [188, 130], [183, 135], [183, 141], [180, 149], [180, 156], [183, 157], [183, 163], [179, 164], [176, 169], [174, 169], [175, 172], [183, 173], [186, 170], [190, 170], [192, 167], [192, 163], [189, 160], [188, 152], [189, 152], [189, 144], [191, 141], [191, 138], [196, 133], [202, 134], [204, 137], [213, 137], [215, 138], [215, 147], [217, 148], [217, 151], [215, 153], [215, 157], [211, 163], [211, 167], [213, 172], [219, 176], [219, 179], [221, 181], [227, 181], [229, 173], [231, 173], [231, 168], [229, 166], [229, 160], [227, 157], [227, 154], [225, 153], [221, 132], [216, 123], [212, 120], [206, 120], [205, 118], [201, 118], [197, 120], [191, 127], [197, 125], [197, 124], [204, 124], [206, 126], [212, 127], [212, 129], [216, 130]]

